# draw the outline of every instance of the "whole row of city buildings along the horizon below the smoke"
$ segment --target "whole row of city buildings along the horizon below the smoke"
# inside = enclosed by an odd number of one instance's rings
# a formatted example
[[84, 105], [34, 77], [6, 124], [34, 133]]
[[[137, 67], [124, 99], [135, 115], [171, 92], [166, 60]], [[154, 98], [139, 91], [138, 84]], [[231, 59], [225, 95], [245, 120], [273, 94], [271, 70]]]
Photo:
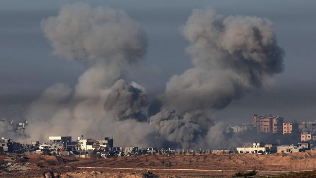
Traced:
[[[23, 122], [7, 122], [5, 118], [0, 119], [0, 133], [5, 131], [15, 131], [20, 135], [25, 134], [25, 128], [29, 121]], [[249, 132], [249, 133], [272, 133], [288, 135], [294, 134], [294, 137], [299, 137], [300, 142], [296, 145], [281, 145], [267, 144], [263, 142], [248, 143], [243, 147], [237, 147], [234, 151], [231, 150], [203, 150], [203, 153], [212, 154], [228, 154], [228, 153], [254, 153], [254, 154], [270, 154], [270, 153], [295, 153], [311, 149], [316, 141], [316, 121], [315, 122], [301, 122], [296, 121], [287, 122], [282, 117], [272, 115], [253, 115], [252, 124], [242, 125], [228, 125], [227, 132]], [[283, 137], [283, 136], [282, 136]], [[291, 143], [291, 142], [290, 142]], [[95, 153], [103, 157], [110, 156], [135, 156], [141, 154], [176, 154], [176, 153], [190, 153], [194, 154], [202, 150], [194, 149], [170, 149], [162, 148], [158, 150], [155, 147], [139, 149], [138, 147], [114, 147], [114, 139], [105, 137], [104, 140], [95, 140], [84, 138], [83, 135], [78, 137], [75, 141], [70, 136], [51, 136], [48, 142], [40, 143], [38, 141], [30, 142], [30, 144], [21, 144], [14, 142], [12, 139], [1, 138], [0, 152], [8, 153], [53, 153], [59, 155], [77, 155], [79, 157], [91, 156]]]

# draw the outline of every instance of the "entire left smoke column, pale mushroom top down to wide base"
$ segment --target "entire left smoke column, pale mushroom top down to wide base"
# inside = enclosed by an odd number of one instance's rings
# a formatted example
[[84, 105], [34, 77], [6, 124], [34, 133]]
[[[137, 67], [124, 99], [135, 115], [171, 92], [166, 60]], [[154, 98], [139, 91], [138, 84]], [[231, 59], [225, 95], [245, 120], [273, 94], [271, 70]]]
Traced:
[[147, 106], [144, 90], [135, 82], [118, 80], [146, 52], [146, 35], [138, 23], [122, 10], [76, 3], [44, 19], [41, 27], [54, 54], [78, 61], [87, 70], [74, 90], [55, 84], [33, 102], [29, 117], [34, 121], [27, 130], [32, 140], [84, 134], [114, 136], [121, 145], [157, 142], [146, 139], [155, 134], [149, 123], [139, 122], [147, 120], [141, 110]]

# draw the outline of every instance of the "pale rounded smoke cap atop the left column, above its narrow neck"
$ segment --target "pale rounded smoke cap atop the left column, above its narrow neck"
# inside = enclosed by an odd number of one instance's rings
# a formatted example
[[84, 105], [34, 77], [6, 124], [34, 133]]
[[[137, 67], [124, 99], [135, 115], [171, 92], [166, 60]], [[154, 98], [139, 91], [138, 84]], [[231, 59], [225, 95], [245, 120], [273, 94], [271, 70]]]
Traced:
[[146, 52], [146, 36], [123, 10], [76, 3], [64, 6], [41, 26], [54, 53], [69, 59], [125, 65]]

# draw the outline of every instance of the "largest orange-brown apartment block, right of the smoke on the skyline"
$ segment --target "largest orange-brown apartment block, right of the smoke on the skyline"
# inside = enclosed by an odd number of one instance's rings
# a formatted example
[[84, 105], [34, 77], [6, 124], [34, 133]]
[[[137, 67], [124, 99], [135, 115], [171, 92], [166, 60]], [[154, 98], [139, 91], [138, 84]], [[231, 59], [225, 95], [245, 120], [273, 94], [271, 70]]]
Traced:
[[252, 126], [256, 127], [258, 132], [282, 133], [283, 118], [272, 115], [254, 115]]

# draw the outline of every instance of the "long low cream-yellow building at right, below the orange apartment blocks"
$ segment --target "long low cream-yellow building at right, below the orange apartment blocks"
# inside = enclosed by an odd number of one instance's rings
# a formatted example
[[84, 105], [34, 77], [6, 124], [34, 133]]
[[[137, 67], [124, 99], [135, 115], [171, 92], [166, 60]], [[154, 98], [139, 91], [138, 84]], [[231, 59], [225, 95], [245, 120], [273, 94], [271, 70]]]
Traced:
[[243, 154], [243, 153], [268, 154], [268, 153], [277, 152], [275, 145], [265, 144], [263, 142], [253, 142], [252, 147], [237, 147], [236, 150], [238, 154]]

